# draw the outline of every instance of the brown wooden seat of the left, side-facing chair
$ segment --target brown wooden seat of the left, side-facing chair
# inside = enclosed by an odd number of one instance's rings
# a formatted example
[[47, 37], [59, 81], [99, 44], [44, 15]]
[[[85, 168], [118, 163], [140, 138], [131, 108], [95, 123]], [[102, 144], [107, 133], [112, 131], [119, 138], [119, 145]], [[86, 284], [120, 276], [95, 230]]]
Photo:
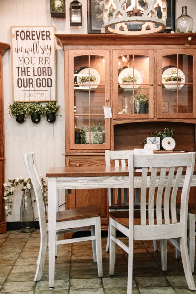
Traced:
[[[82, 206], [69, 210], [57, 211], [56, 221], [79, 220], [83, 218], [95, 218], [101, 216], [101, 210], [98, 206]], [[46, 223], [48, 223], [48, 213], [46, 213]]]

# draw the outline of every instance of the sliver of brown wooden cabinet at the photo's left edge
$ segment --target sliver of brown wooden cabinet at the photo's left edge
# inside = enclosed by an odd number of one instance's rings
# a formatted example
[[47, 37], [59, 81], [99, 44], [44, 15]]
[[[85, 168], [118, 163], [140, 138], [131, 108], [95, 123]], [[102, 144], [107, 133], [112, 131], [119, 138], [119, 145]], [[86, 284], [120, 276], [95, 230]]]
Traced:
[[6, 233], [6, 220], [5, 211], [3, 207], [3, 194], [4, 194], [4, 109], [3, 109], [3, 66], [2, 55], [10, 48], [9, 44], [0, 42], [0, 233]]

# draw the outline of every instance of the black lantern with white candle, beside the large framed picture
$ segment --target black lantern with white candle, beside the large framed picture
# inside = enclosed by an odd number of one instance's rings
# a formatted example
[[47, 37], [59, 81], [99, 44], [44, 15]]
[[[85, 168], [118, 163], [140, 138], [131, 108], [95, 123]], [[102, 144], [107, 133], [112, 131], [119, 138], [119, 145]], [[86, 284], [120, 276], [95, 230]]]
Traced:
[[69, 6], [70, 26], [82, 25], [82, 4], [73, 0]]

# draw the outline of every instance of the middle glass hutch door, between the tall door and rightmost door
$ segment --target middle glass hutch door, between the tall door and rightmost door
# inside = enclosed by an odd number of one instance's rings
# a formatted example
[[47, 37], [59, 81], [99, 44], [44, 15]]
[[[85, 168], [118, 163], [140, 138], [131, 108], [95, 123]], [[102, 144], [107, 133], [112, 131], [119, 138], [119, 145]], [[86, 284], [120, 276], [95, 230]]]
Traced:
[[114, 118], [153, 118], [153, 50], [113, 50]]

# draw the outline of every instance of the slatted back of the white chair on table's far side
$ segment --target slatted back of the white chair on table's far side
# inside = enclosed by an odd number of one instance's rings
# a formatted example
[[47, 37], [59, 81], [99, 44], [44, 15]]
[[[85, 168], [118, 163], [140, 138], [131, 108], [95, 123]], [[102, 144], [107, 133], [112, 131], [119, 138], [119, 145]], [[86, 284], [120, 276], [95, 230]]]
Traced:
[[[111, 161], [114, 161], [115, 166], [126, 166], [129, 164], [129, 154], [134, 153], [134, 150], [118, 150], [118, 151], [110, 151], [105, 150], [105, 165], [111, 166]], [[113, 199], [113, 190], [108, 189], [109, 194], [109, 206], [114, 203]], [[128, 202], [128, 193], [127, 189], [123, 188], [123, 199], [122, 199], [122, 190], [120, 188], [117, 189], [117, 203], [127, 203]]]

